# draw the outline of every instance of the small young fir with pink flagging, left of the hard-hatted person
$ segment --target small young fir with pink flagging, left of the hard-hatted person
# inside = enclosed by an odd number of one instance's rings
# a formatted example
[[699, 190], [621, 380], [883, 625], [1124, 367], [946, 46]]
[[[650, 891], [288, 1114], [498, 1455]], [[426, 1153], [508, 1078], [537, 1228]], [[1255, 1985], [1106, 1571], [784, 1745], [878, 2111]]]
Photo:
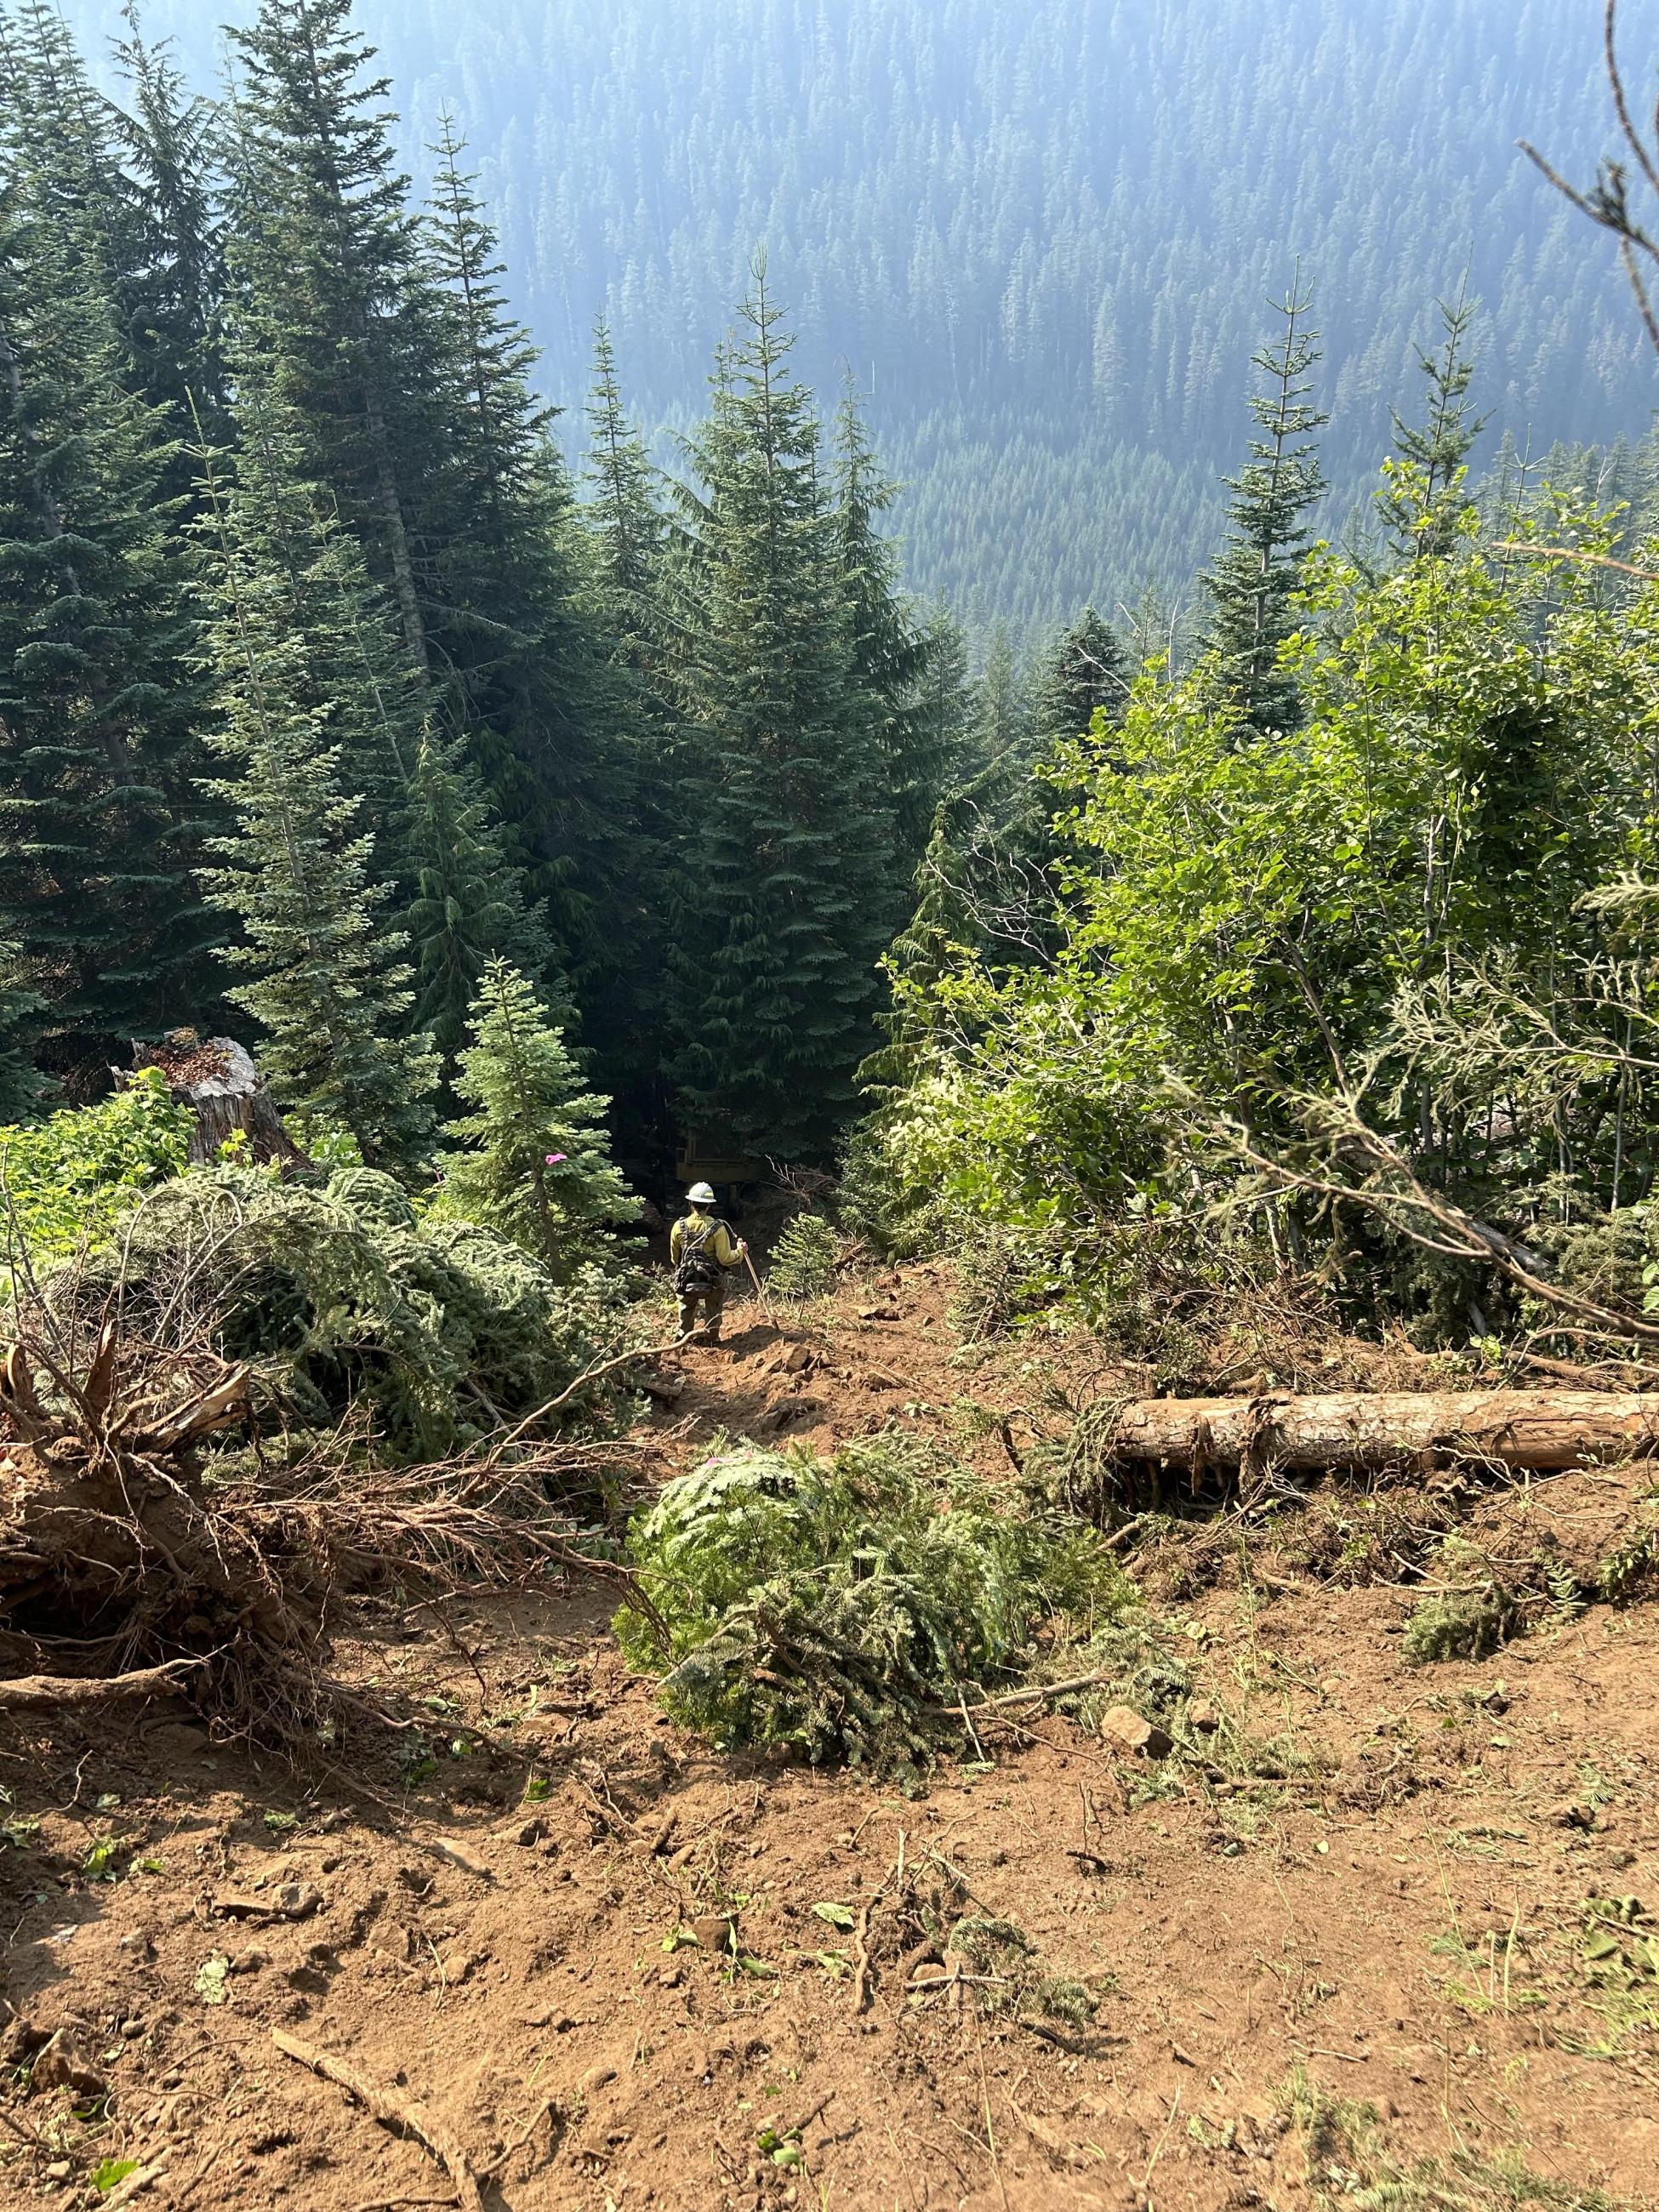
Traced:
[[564, 1279], [586, 1230], [635, 1212], [611, 1161], [611, 1102], [586, 1088], [564, 1033], [507, 960], [484, 969], [467, 1026], [456, 1091], [471, 1113], [447, 1128], [442, 1210], [511, 1237]]

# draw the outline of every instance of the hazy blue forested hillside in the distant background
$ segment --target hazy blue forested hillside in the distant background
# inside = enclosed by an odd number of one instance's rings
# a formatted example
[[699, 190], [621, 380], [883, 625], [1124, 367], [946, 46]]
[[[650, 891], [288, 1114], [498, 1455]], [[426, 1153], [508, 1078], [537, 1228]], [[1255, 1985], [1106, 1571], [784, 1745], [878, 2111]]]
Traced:
[[[250, 0], [148, 0], [197, 82]], [[1595, 9], [1557, 0], [363, 0], [434, 168], [453, 111], [511, 301], [575, 409], [606, 316], [650, 425], [703, 409], [759, 243], [801, 369], [843, 365], [905, 480], [925, 593], [1015, 626], [1181, 591], [1221, 520], [1245, 365], [1316, 290], [1340, 529], [1438, 294], [1478, 323], [1495, 440], [1637, 434], [1615, 259], [1517, 155], [1599, 148]], [[69, 0], [97, 44], [115, 0]], [[1630, 53], [1655, 0], [1630, 0]], [[104, 82], [108, 64], [97, 55]], [[566, 418], [564, 436], [577, 425]]]

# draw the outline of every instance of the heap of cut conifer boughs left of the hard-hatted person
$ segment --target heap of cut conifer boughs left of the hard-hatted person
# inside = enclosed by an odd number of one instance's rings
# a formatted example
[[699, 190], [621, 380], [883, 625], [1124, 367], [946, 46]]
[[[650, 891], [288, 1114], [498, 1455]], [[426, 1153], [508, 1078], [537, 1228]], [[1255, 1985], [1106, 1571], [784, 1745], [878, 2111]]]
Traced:
[[323, 1188], [197, 1170], [150, 1197], [84, 1287], [97, 1294], [102, 1274], [113, 1290], [122, 1267], [135, 1327], [186, 1305], [301, 1425], [367, 1409], [400, 1458], [451, 1453], [544, 1405], [615, 1336], [622, 1296], [599, 1270], [555, 1283], [491, 1230], [416, 1217], [372, 1168]]

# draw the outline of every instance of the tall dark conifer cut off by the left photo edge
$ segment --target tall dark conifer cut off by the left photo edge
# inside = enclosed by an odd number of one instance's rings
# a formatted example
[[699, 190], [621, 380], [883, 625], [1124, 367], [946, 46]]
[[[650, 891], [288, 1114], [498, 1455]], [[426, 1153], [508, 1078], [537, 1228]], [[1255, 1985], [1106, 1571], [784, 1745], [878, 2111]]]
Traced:
[[100, 1082], [126, 1040], [215, 998], [201, 690], [170, 447], [124, 385], [106, 208], [58, 126], [35, 133], [29, 55], [7, 55], [29, 97], [0, 146], [0, 936], [42, 1002], [42, 1064]]

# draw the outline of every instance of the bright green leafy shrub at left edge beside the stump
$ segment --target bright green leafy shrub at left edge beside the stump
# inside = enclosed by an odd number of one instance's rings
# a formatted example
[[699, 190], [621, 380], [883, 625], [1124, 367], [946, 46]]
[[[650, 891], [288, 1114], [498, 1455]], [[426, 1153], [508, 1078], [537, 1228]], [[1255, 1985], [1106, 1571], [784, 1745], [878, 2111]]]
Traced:
[[159, 1068], [97, 1106], [0, 1128], [9, 1243], [38, 1267], [106, 1243], [146, 1190], [184, 1170], [192, 1128], [195, 1115], [175, 1106]]

